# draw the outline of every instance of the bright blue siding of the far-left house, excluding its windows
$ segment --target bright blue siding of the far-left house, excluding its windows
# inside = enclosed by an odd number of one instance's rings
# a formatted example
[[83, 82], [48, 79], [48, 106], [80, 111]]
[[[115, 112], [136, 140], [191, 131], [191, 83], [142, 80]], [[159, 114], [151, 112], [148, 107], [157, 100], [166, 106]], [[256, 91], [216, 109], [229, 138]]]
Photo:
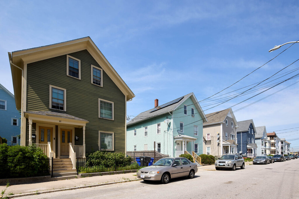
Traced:
[[[0, 110], [0, 136], [7, 139], [7, 144], [12, 145], [12, 136], [20, 135], [21, 133], [21, 115], [16, 109], [15, 99], [6, 91], [0, 88], [0, 99], [6, 100], [6, 110]], [[18, 119], [18, 126], [11, 125], [11, 118]], [[20, 145], [20, 140], [17, 138]], [[13, 144], [16, 145], [16, 144]]]

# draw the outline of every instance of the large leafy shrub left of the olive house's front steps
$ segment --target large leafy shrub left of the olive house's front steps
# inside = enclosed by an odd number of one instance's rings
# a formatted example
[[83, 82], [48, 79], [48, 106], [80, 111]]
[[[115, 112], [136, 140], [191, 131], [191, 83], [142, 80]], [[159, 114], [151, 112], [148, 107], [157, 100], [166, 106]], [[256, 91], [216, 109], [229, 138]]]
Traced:
[[0, 144], [0, 178], [49, 175], [48, 157], [35, 146]]

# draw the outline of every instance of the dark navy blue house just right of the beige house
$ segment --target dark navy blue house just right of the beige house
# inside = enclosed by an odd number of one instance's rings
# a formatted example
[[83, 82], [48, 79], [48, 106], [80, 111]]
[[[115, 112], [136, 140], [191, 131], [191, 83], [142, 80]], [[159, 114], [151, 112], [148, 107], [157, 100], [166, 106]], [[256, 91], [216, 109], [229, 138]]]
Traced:
[[255, 132], [253, 120], [238, 121], [237, 129], [238, 152], [242, 151], [242, 155], [248, 158], [256, 157], [257, 144], [255, 144]]

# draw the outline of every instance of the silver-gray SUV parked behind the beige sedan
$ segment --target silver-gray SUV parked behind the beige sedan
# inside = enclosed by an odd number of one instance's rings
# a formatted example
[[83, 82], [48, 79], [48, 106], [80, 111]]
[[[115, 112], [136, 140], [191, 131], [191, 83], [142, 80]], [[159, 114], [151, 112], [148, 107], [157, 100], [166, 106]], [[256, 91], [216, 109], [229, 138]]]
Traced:
[[223, 155], [219, 160], [215, 161], [216, 170], [231, 169], [236, 170], [236, 167], [245, 169], [244, 159], [239, 154], [227, 154]]

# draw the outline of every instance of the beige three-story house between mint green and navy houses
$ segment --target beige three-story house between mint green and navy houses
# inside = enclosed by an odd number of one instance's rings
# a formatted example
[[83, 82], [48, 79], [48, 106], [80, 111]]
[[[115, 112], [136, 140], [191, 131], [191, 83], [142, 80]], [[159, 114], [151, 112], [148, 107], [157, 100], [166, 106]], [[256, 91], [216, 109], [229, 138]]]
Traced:
[[206, 115], [208, 122], [203, 123], [203, 154], [222, 156], [237, 153], [238, 123], [232, 109]]

